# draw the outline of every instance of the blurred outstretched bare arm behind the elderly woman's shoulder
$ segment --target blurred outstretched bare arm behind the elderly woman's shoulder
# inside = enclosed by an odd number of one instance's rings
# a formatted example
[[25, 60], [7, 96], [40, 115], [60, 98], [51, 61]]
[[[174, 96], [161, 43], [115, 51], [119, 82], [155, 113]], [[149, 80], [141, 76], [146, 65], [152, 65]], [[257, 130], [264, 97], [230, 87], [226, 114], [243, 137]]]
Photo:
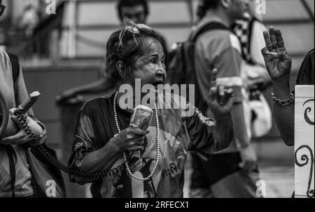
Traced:
[[99, 79], [94, 83], [79, 86], [76, 88], [71, 88], [69, 90], [64, 91], [61, 95], [57, 96], [56, 100], [57, 102], [62, 102], [69, 98], [73, 98], [76, 95], [103, 93], [109, 91], [113, 87], [114, 87], [113, 80], [107, 74], [104, 74], [104, 77], [102, 79]]

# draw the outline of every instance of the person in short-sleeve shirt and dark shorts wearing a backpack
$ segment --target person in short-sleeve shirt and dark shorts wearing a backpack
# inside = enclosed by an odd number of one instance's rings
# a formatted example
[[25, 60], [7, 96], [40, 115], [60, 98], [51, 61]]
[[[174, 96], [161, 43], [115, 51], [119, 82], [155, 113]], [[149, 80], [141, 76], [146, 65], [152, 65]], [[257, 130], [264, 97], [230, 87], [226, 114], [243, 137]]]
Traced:
[[[192, 33], [211, 22], [227, 29], [213, 29], [200, 35], [195, 43], [195, 72], [202, 101], [207, 102], [211, 69], [218, 69], [218, 83], [234, 88], [232, 107], [234, 140], [230, 147], [204, 161], [193, 156], [190, 197], [256, 197], [255, 183], [259, 180], [257, 157], [251, 145], [251, 110], [248, 88], [242, 77], [244, 60], [237, 36], [228, 28], [246, 11], [243, 0], [203, 0], [198, 13], [203, 15]], [[211, 110], [202, 111], [213, 117]]]

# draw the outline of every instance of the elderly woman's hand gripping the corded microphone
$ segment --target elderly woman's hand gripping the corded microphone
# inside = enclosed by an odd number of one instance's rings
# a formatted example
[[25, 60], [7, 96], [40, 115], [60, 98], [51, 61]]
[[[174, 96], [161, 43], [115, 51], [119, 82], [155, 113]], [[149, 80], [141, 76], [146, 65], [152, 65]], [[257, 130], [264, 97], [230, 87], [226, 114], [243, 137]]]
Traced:
[[128, 127], [121, 131], [111, 142], [118, 152], [136, 152], [144, 148], [144, 139], [149, 131]]

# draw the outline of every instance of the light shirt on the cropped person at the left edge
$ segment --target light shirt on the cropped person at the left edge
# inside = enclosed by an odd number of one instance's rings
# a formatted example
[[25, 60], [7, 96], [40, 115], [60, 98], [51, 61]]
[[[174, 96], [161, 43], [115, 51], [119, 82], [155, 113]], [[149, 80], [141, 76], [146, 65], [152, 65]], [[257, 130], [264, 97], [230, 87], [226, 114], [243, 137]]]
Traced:
[[[22, 76], [22, 69], [18, 74], [18, 79], [13, 84], [12, 65], [8, 54], [0, 50], [0, 92], [6, 100], [7, 107], [15, 108], [28, 97], [25, 81]], [[33, 114], [32, 111], [29, 114]], [[34, 194], [31, 187], [31, 173], [27, 167], [27, 157], [25, 147], [22, 145], [12, 145], [15, 150], [15, 197], [27, 197]], [[12, 197], [10, 182], [9, 160], [6, 150], [0, 145], [0, 198]]]

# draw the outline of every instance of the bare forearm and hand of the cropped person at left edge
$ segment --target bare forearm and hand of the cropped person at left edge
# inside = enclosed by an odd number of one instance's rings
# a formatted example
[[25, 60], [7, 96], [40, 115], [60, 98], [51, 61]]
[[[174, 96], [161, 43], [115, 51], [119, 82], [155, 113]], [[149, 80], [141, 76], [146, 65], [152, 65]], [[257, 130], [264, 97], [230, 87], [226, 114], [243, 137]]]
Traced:
[[[36, 138], [39, 138], [40, 135], [43, 133], [43, 128], [41, 128], [41, 126], [37, 124], [36, 121], [28, 117], [26, 114], [24, 115], [24, 118], [27, 123], [27, 126], [29, 126], [29, 130], [31, 130], [31, 133], [33, 133]], [[22, 122], [18, 121], [18, 117], [16, 117], [15, 115], [12, 115], [10, 116], [10, 119], [12, 119], [12, 121], [14, 121], [18, 125], [19, 131], [15, 135], [11, 135], [9, 137], [3, 138], [1, 140], [2, 144], [23, 145], [34, 140], [34, 138], [31, 138], [29, 133], [25, 131], [25, 129], [22, 126]]]

